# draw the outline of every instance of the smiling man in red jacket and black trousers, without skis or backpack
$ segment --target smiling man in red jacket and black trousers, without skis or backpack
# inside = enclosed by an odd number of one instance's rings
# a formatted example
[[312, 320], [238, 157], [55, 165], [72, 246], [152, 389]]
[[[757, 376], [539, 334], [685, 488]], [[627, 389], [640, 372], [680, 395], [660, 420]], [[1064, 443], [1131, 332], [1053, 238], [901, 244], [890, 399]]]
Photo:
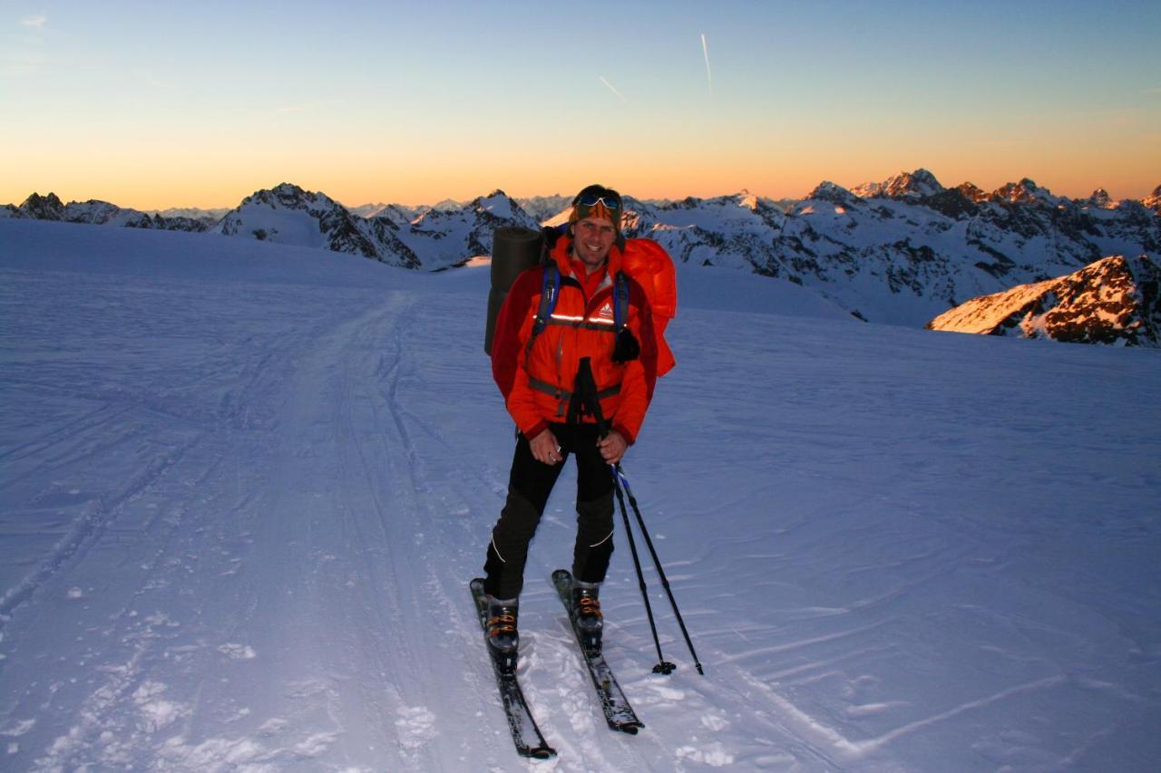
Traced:
[[[615, 190], [577, 194], [548, 266], [517, 277], [496, 322], [492, 376], [518, 436], [484, 591], [489, 644], [513, 656], [528, 543], [569, 454], [577, 463], [572, 619], [590, 646], [600, 643], [599, 588], [613, 552], [610, 465], [636, 440], [657, 377], [644, 290], [627, 274], [618, 280], [622, 215]], [[542, 302], [554, 294], [555, 304]]]

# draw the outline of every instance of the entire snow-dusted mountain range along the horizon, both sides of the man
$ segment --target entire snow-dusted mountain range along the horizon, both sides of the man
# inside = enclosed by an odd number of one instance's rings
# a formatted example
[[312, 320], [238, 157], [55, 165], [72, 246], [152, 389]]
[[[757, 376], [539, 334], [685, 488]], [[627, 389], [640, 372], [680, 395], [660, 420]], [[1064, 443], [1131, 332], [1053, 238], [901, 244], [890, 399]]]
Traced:
[[[0, 207], [0, 217], [207, 231], [438, 270], [489, 254], [497, 226], [565, 222], [569, 201], [495, 190], [467, 203], [346, 208], [282, 183], [217, 219], [64, 204], [52, 194]], [[852, 189], [824, 181], [798, 202], [741, 192], [662, 202], [626, 196], [625, 204], [626, 236], [652, 238], [676, 260], [785, 279], [860, 319], [895, 325], [923, 326], [973, 298], [1072, 276], [1110, 255], [1127, 257], [1130, 274], [1146, 265], [1140, 255], [1161, 262], [1161, 186], [1140, 201], [1112, 201], [1099, 188], [1077, 200], [1029, 179], [990, 193], [971, 182], [946, 188], [921, 168]], [[1135, 338], [1148, 345], [1147, 335]]]

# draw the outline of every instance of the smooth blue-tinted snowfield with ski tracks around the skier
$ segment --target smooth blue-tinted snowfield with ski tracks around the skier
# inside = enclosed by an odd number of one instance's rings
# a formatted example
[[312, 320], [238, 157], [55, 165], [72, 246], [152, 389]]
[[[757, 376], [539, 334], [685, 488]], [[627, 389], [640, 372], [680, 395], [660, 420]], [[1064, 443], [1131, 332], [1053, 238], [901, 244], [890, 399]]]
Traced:
[[706, 676], [652, 569], [678, 671], [650, 673], [620, 542], [606, 652], [647, 727], [605, 728], [548, 579], [568, 471], [521, 606], [560, 756], [528, 764], [467, 588], [512, 446], [485, 268], [5, 219], [0, 275], [5, 770], [1161, 758], [1155, 352], [863, 324], [683, 270], [626, 472]]

